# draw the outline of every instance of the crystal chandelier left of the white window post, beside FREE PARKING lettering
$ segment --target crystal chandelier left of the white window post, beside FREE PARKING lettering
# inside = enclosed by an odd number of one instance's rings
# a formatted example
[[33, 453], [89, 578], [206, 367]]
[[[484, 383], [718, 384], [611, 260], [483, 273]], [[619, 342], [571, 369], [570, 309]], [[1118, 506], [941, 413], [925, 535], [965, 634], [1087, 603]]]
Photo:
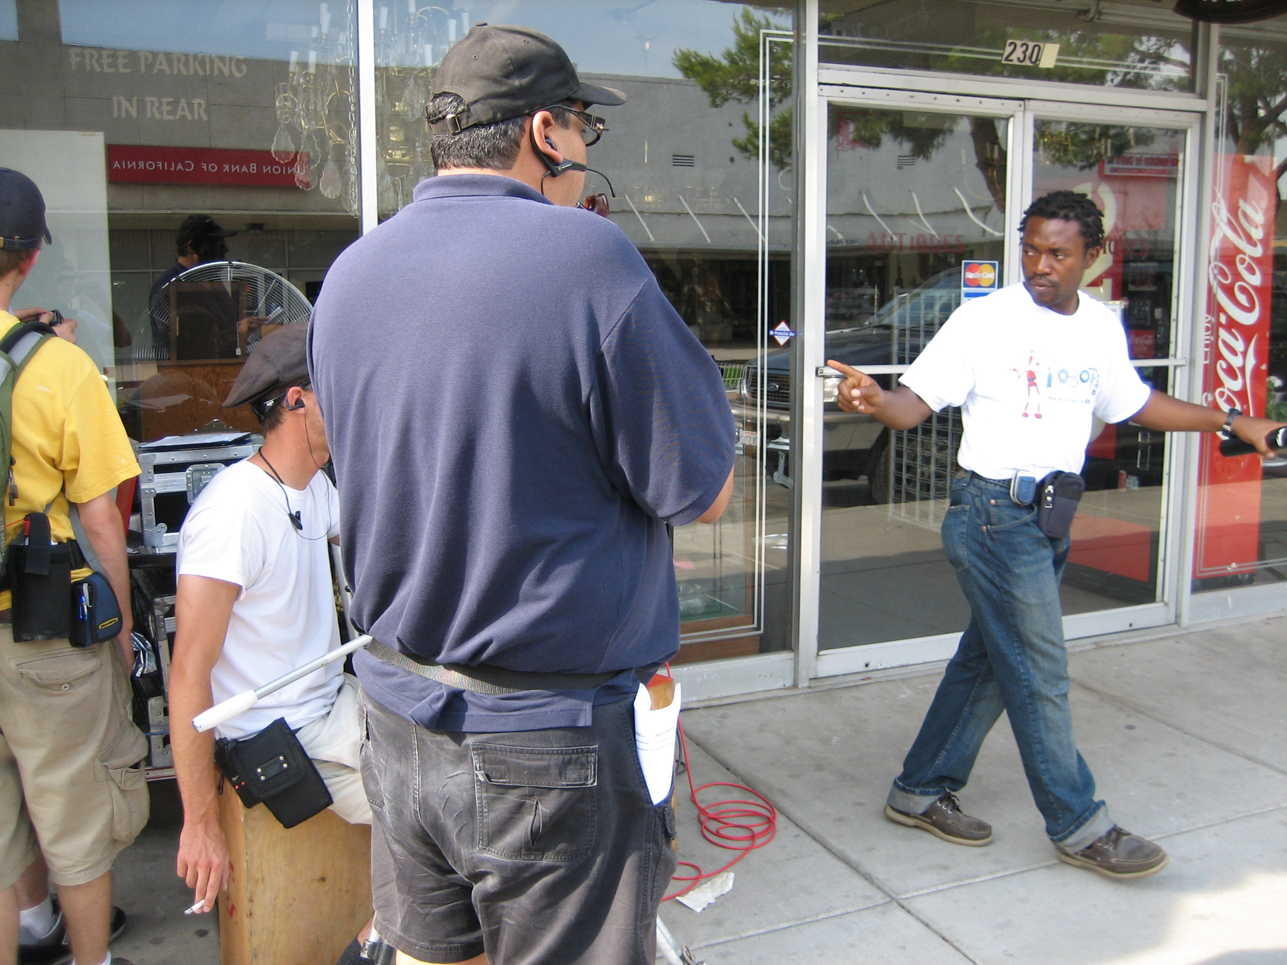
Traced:
[[318, 22], [306, 50], [292, 50], [287, 80], [275, 90], [277, 133], [273, 158], [290, 163], [300, 190], [342, 198], [359, 210], [356, 152], [356, 85], [354, 4], [345, 3], [344, 22], [329, 4], [318, 4]]

